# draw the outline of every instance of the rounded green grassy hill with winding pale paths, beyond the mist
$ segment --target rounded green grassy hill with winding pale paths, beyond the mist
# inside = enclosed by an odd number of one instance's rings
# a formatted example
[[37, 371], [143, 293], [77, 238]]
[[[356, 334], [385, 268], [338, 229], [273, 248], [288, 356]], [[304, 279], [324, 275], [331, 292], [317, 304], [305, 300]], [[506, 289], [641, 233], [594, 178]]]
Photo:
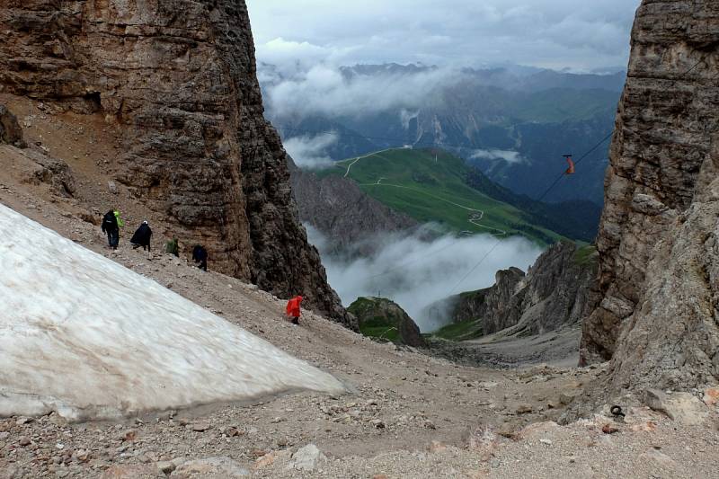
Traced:
[[[447, 152], [392, 149], [338, 162], [320, 174], [344, 175], [350, 164], [349, 177], [369, 196], [420, 222], [435, 222], [455, 232], [525, 235], [539, 244], [562, 238], [533, 224], [520, 209], [468, 186], [469, 167]], [[475, 224], [469, 221], [472, 217]]]

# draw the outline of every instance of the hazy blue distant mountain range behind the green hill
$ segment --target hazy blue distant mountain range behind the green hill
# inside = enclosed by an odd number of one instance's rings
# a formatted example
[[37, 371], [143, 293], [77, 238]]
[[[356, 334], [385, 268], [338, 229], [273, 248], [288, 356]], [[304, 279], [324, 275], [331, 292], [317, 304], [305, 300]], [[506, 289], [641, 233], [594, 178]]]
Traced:
[[[333, 160], [386, 147], [439, 146], [511, 191], [535, 199], [564, 170], [562, 155], [581, 155], [613, 129], [626, 78], [623, 71], [597, 75], [500, 67], [450, 72], [416, 64], [357, 65], [338, 71], [350, 98], [364, 86], [379, 90], [399, 85], [398, 95], [409, 99], [387, 107], [378, 100], [366, 108], [358, 101], [356, 112], [313, 111], [311, 102], [297, 111], [270, 109], [283, 137], [334, 131], [337, 141], [324, 150]], [[272, 80], [263, 84], [264, 93], [272, 97], [286, 80], [273, 72]], [[414, 89], [414, 96], [402, 86]], [[545, 200], [590, 200], [600, 207], [607, 153], [608, 144], [600, 145], [572, 182], [560, 182]], [[516, 161], [506, 161], [502, 154]]]

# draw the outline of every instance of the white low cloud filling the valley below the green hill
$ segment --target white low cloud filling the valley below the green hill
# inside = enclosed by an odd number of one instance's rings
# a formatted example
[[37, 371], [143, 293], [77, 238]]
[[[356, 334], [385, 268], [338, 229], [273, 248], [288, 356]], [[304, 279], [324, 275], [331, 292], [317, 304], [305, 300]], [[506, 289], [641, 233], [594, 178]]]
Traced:
[[[527, 271], [542, 253], [521, 237], [503, 239], [497, 244], [492, 235], [463, 238], [444, 235], [427, 240], [426, 235], [418, 233], [378, 235], [373, 240], [376, 243], [373, 255], [338, 258], [326, 251], [324, 235], [312, 226], [306, 228], [310, 242], [322, 254], [330, 285], [345, 306], [358, 297], [388, 297], [402, 306], [425, 333], [447, 322], [445, 317], [429, 317], [427, 306], [462, 291], [492, 286], [496, 271], [510, 266]], [[491, 250], [484, 262], [455, 288]]]

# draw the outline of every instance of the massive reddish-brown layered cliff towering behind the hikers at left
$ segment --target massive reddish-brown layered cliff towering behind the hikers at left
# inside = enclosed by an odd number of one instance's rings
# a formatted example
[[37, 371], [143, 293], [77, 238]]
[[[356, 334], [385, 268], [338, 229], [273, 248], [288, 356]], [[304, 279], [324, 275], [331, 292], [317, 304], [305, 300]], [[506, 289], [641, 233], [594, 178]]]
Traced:
[[7, 0], [4, 93], [120, 126], [120, 182], [215, 269], [346, 316], [297, 219], [287, 155], [263, 119], [244, 0]]

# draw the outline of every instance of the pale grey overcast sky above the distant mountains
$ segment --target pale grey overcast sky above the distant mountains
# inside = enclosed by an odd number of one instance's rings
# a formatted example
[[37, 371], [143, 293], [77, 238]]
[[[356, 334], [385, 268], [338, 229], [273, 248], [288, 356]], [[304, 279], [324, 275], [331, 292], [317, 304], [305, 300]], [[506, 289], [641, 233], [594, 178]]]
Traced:
[[625, 67], [640, 0], [247, 0], [259, 60]]

